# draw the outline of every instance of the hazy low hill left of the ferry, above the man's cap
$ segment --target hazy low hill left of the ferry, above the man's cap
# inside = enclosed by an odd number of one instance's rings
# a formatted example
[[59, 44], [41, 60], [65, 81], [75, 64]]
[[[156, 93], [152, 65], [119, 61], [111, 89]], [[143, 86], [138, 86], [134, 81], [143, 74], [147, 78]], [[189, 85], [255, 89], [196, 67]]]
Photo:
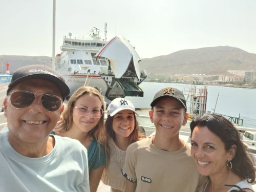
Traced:
[[0, 55], [0, 62], [3, 63], [3, 71], [6, 72], [5, 63], [10, 63], [9, 71], [13, 73], [16, 69], [33, 64], [50, 66], [52, 57], [47, 56], [23, 56], [23, 55]]

